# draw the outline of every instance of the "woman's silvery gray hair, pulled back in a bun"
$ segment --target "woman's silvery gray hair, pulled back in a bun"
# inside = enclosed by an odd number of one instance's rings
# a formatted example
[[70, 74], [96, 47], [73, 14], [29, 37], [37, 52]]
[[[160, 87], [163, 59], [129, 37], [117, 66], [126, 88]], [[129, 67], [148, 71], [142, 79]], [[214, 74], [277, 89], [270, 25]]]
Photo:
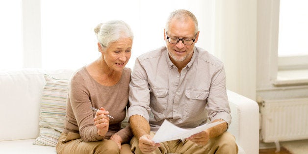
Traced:
[[111, 20], [99, 24], [94, 28], [98, 42], [106, 48], [110, 43], [118, 41], [121, 37], [128, 37], [133, 40], [134, 36], [128, 24], [122, 20]]

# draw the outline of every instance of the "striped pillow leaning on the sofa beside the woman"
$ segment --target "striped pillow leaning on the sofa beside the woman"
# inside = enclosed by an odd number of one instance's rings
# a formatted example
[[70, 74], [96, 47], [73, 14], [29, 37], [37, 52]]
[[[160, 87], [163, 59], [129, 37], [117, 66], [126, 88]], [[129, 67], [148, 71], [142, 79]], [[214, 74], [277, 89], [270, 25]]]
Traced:
[[45, 75], [45, 79], [40, 108], [40, 134], [33, 144], [55, 147], [64, 128], [69, 80], [48, 75]]

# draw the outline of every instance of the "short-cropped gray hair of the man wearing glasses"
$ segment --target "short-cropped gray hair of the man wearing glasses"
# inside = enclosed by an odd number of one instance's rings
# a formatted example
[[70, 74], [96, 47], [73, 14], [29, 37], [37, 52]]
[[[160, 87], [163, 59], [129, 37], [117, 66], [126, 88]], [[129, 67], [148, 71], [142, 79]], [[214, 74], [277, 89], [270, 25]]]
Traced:
[[193, 20], [193, 22], [195, 23], [195, 34], [197, 34], [197, 32], [199, 31], [199, 28], [198, 28], [198, 21], [197, 21], [196, 16], [193, 13], [191, 13], [190, 11], [184, 10], [184, 9], [175, 10], [175, 11], [170, 13], [170, 15], [167, 19], [165, 30], [169, 31], [169, 25], [170, 25], [170, 22], [171, 22], [172, 19], [175, 18], [177, 20], [187, 20], [188, 17], [190, 17]]

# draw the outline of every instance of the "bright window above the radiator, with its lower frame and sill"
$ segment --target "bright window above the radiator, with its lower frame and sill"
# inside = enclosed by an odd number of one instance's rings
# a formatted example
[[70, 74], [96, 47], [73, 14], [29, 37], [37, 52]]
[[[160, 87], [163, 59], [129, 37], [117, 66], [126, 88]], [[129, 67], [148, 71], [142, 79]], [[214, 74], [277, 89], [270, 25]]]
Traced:
[[276, 86], [308, 83], [308, 10], [305, 0], [280, 0]]

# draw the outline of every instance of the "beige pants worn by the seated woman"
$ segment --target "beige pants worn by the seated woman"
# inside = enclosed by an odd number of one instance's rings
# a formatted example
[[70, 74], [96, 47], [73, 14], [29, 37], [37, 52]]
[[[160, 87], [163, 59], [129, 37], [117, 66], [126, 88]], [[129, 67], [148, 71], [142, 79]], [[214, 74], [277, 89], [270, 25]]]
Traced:
[[56, 146], [58, 154], [133, 154], [129, 144], [123, 144], [120, 151], [112, 140], [84, 142], [78, 133], [62, 133]]

